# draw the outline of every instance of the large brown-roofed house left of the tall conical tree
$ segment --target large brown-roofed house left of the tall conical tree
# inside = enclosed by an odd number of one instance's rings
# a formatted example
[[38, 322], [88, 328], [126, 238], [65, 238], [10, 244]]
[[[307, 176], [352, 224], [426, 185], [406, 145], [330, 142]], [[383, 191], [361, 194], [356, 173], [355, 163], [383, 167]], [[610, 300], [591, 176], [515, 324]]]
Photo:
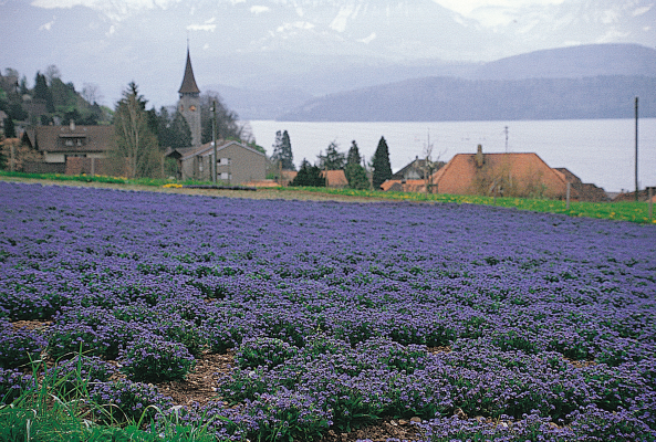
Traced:
[[42, 164], [25, 165], [25, 171], [69, 173], [69, 159], [86, 158], [86, 161], [77, 164], [88, 162], [90, 170], [80, 169], [70, 173], [101, 173], [101, 169], [107, 167], [103, 160], [115, 146], [114, 126], [76, 126], [74, 122], [67, 126], [37, 126], [25, 130], [23, 143], [43, 158]]

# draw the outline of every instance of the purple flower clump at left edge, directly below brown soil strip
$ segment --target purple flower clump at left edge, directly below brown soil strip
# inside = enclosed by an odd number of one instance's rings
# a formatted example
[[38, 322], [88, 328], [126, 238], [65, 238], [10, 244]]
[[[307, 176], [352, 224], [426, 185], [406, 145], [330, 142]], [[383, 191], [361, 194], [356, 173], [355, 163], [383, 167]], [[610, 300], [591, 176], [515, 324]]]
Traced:
[[17, 368], [39, 359], [48, 343], [41, 332], [14, 329], [4, 322], [0, 322], [0, 368]]

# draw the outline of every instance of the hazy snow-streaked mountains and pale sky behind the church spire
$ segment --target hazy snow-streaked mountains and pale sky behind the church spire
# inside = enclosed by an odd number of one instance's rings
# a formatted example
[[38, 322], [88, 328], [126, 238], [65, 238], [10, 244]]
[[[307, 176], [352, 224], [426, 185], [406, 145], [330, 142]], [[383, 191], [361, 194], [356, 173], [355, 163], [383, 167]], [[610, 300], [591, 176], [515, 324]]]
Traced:
[[[322, 95], [601, 42], [656, 45], [653, 0], [544, 0], [468, 13], [440, 0], [4, 0], [0, 69], [56, 64], [108, 105], [135, 81], [177, 99], [187, 39], [198, 84]], [[497, 1], [496, 3], [502, 3]], [[489, 4], [494, 4], [492, 1]], [[532, 3], [535, 4], [535, 3]]]

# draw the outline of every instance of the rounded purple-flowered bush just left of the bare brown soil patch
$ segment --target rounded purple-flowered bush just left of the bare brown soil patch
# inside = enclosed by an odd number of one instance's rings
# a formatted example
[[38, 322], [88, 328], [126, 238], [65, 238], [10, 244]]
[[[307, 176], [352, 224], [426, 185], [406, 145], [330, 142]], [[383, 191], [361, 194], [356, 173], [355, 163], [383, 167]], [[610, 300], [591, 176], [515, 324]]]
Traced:
[[185, 379], [196, 365], [187, 348], [157, 335], [142, 335], [118, 355], [121, 370], [132, 380], [163, 382]]

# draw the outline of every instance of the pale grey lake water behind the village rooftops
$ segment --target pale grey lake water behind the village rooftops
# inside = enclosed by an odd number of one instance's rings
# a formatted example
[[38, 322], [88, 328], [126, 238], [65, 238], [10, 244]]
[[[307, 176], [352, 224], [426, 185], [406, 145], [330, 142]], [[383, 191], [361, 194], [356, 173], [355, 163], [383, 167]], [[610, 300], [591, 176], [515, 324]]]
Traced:
[[[456, 154], [535, 152], [550, 167], [565, 167], [584, 182], [608, 192], [635, 189], [635, 119], [577, 119], [537, 122], [435, 123], [305, 123], [250, 122], [260, 146], [271, 155], [275, 131], [290, 136], [294, 164], [314, 164], [320, 151], [335, 141], [348, 151], [355, 140], [361, 155], [371, 159], [382, 136], [389, 147], [392, 170], [424, 157], [428, 138], [433, 159], [448, 161]], [[506, 141], [508, 127], [508, 144]], [[507, 148], [508, 146], [508, 148]], [[656, 118], [638, 122], [638, 181], [656, 186]]]

